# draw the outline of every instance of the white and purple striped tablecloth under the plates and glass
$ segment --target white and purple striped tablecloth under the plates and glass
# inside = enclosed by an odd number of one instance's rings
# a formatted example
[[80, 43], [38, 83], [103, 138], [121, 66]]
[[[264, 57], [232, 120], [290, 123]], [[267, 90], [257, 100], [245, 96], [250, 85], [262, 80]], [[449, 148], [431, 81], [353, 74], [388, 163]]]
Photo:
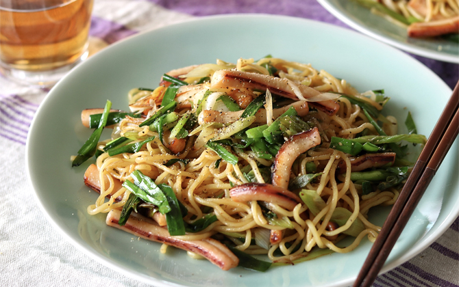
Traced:
[[[351, 29], [314, 0], [95, 0], [90, 53], [139, 31], [229, 13], [282, 14]], [[451, 89], [459, 79], [457, 64], [410, 56]], [[147, 286], [77, 250], [36, 204], [25, 175], [25, 141], [47, 92], [0, 77], [0, 286]], [[459, 219], [421, 254], [377, 277], [373, 286], [459, 286]]]

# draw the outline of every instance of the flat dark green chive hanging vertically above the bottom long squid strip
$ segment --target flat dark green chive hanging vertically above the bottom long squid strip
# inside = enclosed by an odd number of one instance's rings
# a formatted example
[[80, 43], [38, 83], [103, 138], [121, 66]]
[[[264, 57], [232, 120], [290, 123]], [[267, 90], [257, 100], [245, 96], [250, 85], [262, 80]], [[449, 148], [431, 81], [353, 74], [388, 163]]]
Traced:
[[167, 202], [169, 202], [169, 206], [171, 207], [171, 211], [166, 213], [167, 231], [172, 236], [185, 235], [184, 219], [180, 211], [179, 201], [172, 187], [166, 184], [159, 184], [158, 187], [166, 195]]

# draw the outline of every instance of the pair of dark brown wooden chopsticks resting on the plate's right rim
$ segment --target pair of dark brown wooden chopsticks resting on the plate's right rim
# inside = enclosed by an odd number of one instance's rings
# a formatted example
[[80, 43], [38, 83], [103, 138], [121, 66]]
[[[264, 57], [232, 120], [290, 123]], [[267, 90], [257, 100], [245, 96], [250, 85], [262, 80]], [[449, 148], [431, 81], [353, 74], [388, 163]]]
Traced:
[[373, 284], [397, 238], [410, 219], [414, 208], [416, 208], [425, 189], [427, 189], [454, 139], [456, 139], [459, 131], [458, 90], [459, 82], [438, 119], [434, 131], [425, 143], [419, 159], [414, 164], [412, 172], [384, 222], [380, 234], [373, 243], [353, 287], [369, 287]]

